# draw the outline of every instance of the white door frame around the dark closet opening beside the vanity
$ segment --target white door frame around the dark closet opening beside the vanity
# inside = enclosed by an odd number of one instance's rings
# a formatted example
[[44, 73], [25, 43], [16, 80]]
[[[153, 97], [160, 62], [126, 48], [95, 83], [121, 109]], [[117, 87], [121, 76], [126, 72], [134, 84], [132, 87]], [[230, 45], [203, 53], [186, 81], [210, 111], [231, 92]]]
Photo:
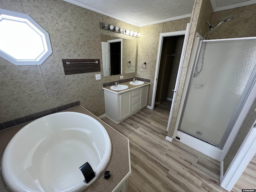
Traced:
[[[185, 35], [183, 46], [182, 46], [182, 52], [181, 52], [181, 56], [180, 56], [180, 63], [179, 63], [179, 68], [178, 68], [178, 74], [177, 74], [175, 88], [174, 88], [174, 95], [172, 97], [172, 100], [174, 100], [175, 92], [176, 92], [176, 87], [177, 87], [177, 82], [178, 82], [177, 80], [178, 80], [179, 74], [180, 74], [182, 58], [184, 56], [184, 49], [186, 47], [185, 45], [186, 45], [186, 37], [188, 35], [188, 26], [189, 26], [189, 23], [187, 24], [186, 30], [175, 31], [175, 32], [167, 32], [167, 33], [160, 33], [159, 44], [158, 44], [158, 52], [157, 52], [157, 58], [156, 58], [156, 71], [155, 71], [155, 78], [154, 78], [152, 101], [151, 101], [151, 107], [149, 107], [150, 109], [154, 109], [154, 104], [155, 104], [156, 85], [157, 85], [158, 72], [159, 72], [159, 66], [160, 66], [160, 57], [161, 57], [161, 53], [162, 53], [163, 39], [164, 39], [164, 37], [169, 37], [169, 36]], [[172, 105], [173, 105], [173, 102], [172, 102]], [[171, 112], [172, 112], [172, 106], [171, 106], [170, 114], [171, 114]], [[169, 127], [169, 126], [167, 126], [167, 127]]]

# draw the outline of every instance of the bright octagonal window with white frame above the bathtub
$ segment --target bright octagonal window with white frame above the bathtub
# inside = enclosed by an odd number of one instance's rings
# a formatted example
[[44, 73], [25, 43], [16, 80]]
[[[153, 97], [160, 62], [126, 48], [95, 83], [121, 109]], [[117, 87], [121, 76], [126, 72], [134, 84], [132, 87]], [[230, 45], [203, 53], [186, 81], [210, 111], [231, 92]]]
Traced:
[[41, 65], [52, 54], [49, 34], [30, 16], [0, 9], [0, 56], [15, 65]]

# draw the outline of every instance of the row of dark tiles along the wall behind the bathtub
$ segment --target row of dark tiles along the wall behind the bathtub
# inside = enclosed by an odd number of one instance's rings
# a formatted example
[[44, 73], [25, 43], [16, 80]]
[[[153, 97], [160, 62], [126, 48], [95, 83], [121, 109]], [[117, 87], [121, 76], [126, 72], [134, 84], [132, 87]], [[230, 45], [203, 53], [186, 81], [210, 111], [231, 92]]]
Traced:
[[69, 109], [69, 108], [72, 108], [72, 107], [75, 107], [78, 105], [80, 105], [80, 101], [76, 101], [76, 102], [73, 102], [70, 104], [58, 106], [58, 107], [48, 109], [45, 111], [37, 112], [37, 113], [27, 115], [24, 117], [20, 117], [20, 118], [14, 119], [14, 120], [2, 122], [2, 123], [0, 123], [0, 130], [10, 128], [10, 127], [13, 127], [13, 126], [16, 126], [16, 125], [19, 125], [19, 124], [22, 124], [22, 123], [25, 123], [28, 121], [32, 121], [32, 120], [38, 119], [40, 117], [43, 117], [43, 116], [46, 116], [49, 114], [53, 114], [56, 112], [60, 112], [60, 111], [63, 111], [63, 110], [66, 110], [66, 109]]

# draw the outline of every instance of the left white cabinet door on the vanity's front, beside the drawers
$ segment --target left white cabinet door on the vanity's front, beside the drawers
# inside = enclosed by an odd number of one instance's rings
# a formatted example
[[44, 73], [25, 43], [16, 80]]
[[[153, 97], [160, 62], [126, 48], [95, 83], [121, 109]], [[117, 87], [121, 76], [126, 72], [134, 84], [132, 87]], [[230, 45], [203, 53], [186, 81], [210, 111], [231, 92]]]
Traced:
[[131, 92], [120, 94], [120, 120], [130, 115]]

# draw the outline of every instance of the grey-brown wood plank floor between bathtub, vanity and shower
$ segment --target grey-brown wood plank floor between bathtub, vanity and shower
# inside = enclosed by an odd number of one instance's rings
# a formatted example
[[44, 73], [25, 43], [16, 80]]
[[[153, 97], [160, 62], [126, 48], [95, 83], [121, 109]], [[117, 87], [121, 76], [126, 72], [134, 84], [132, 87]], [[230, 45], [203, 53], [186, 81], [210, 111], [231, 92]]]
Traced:
[[165, 140], [170, 104], [145, 108], [119, 124], [102, 118], [130, 140], [128, 192], [226, 192], [219, 183], [219, 162]]

